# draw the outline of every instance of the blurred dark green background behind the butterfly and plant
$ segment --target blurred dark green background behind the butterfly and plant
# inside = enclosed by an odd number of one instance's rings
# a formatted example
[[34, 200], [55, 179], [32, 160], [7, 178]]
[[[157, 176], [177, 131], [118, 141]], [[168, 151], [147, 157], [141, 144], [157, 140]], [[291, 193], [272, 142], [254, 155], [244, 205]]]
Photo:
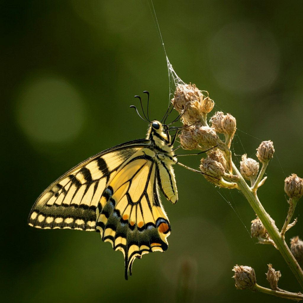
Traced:
[[[256, 159], [262, 140], [274, 142], [258, 193], [281, 228], [284, 179], [303, 177], [303, 2], [154, 5], [177, 74], [207, 90], [215, 110], [236, 117], [235, 161], [243, 153]], [[146, 123], [129, 105], [138, 104], [134, 95], [145, 100], [148, 90], [150, 116], [161, 119], [168, 72], [146, 1], [9, 1], [1, 2], [0, 14], [5, 301], [282, 302], [236, 290], [235, 264], [255, 268], [267, 286], [272, 263], [282, 273], [280, 288], [301, 291], [278, 251], [251, 239], [255, 214], [243, 196], [181, 167], [175, 167], [177, 205], [163, 199], [169, 249], [135, 261], [128, 281], [122, 254], [97, 233], [29, 227], [29, 211], [52, 181], [99, 151], [145, 137]], [[198, 157], [180, 160], [199, 164]], [[302, 202], [287, 241], [303, 237]]]

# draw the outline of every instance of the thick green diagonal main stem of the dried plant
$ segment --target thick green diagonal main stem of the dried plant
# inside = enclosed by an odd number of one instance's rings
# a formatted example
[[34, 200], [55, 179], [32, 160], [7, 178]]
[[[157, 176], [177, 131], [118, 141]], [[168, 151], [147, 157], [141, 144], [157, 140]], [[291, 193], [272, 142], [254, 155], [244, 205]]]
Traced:
[[248, 200], [249, 204], [265, 226], [268, 234], [270, 235], [271, 239], [275, 242], [278, 250], [280, 251], [281, 255], [283, 256], [284, 260], [286, 261], [287, 265], [295, 275], [296, 279], [298, 280], [299, 284], [303, 288], [303, 271], [301, 267], [298, 265], [298, 262], [291, 254], [284, 238], [281, 236], [278, 228], [275, 224], [272, 223], [270, 216], [265, 211], [264, 207], [262, 206], [261, 202], [258, 199], [257, 193], [253, 192], [251, 188], [247, 185], [243, 177], [241, 176], [240, 172], [238, 171], [235, 164], [232, 162], [232, 167], [234, 174], [239, 177], [238, 181], [236, 181], [239, 190], [243, 193], [245, 198]]

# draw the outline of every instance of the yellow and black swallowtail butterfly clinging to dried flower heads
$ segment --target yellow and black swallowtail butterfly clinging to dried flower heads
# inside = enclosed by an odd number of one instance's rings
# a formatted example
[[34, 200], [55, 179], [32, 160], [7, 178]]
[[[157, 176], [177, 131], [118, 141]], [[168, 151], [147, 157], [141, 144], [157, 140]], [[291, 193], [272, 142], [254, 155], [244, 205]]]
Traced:
[[171, 138], [168, 125], [148, 122], [145, 139], [102, 151], [58, 178], [38, 197], [28, 217], [36, 228], [99, 232], [115, 251], [122, 251], [125, 279], [128, 271], [132, 275], [135, 258], [168, 248], [171, 226], [159, 188], [173, 204], [178, 200], [172, 168], [178, 163], [173, 149], [177, 132]]

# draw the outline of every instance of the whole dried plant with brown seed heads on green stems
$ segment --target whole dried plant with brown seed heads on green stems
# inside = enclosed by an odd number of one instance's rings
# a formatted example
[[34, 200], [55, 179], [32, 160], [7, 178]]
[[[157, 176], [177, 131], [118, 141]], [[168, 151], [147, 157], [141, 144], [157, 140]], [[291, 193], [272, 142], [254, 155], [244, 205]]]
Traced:
[[[243, 193], [258, 214], [257, 218], [251, 221], [251, 236], [257, 238], [260, 244], [271, 244], [283, 251], [282, 255], [291, 270], [300, 276], [302, 272], [298, 273], [297, 261], [303, 263], [303, 241], [298, 236], [291, 239], [291, 255], [285, 243], [285, 232], [297, 222], [297, 219], [292, 223], [290, 220], [299, 198], [303, 196], [303, 179], [295, 174], [285, 179], [284, 190], [289, 197], [287, 201], [289, 210], [284, 226], [279, 231], [275, 221], [266, 213], [257, 196], [258, 188], [267, 178], [264, 177], [265, 170], [275, 153], [273, 142], [270, 140], [261, 142], [256, 153], [258, 161], [247, 157], [246, 154], [242, 155], [238, 169], [232, 162], [230, 151], [237, 129], [236, 119], [231, 114], [219, 111], [209, 119], [208, 124], [207, 115], [214, 108], [215, 103], [209, 98], [208, 93], [207, 96], [203, 95], [203, 91], [194, 84], [178, 85], [171, 102], [179, 112], [183, 123], [178, 134], [181, 147], [206, 153], [206, 157], [201, 159], [200, 170], [208, 181], [222, 188], [237, 188]], [[250, 181], [250, 185], [245, 180]], [[233, 271], [238, 289], [267, 293], [270, 291], [271, 294], [282, 298], [303, 299], [301, 293], [289, 293], [278, 288], [281, 273], [272, 268], [271, 264], [268, 265], [266, 274], [271, 289], [260, 287], [256, 283], [255, 271], [249, 266], [236, 265]]]

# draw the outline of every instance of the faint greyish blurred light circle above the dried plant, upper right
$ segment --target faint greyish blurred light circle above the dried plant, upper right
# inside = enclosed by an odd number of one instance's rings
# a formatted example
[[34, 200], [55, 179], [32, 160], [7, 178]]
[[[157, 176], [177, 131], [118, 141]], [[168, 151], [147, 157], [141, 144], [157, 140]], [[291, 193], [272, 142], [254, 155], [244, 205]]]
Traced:
[[218, 83], [235, 92], [269, 87], [280, 66], [274, 36], [250, 22], [233, 22], [219, 29], [211, 39], [209, 58]]

